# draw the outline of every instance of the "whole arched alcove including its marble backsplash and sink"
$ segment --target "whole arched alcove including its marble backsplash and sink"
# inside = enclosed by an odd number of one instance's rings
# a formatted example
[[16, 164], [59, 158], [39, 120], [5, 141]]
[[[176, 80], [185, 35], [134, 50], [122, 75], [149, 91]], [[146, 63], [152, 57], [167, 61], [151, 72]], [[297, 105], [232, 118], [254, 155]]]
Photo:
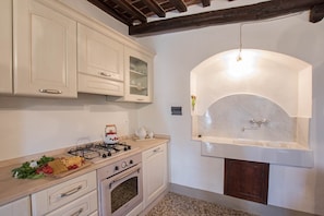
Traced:
[[[238, 55], [217, 53], [191, 71], [193, 140], [207, 156], [312, 166], [312, 65], [265, 50], [243, 49], [239, 61]], [[232, 146], [256, 147], [264, 157]], [[288, 154], [281, 157], [283, 149]]]

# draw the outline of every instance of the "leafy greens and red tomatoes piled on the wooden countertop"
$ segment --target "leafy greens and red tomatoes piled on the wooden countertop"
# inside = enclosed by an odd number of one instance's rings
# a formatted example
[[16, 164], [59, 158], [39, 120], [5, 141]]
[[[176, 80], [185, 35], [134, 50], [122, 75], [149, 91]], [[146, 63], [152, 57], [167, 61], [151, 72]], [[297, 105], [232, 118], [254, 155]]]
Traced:
[[21, 167], [11, 170], [12, 177], [16, 179], [39, 179], [45, 177], [45, 173], [52, 173], [52, 168], [47, 164], [52, 161], [53, 157], [43, 156], [39, 160], [26, 161]]

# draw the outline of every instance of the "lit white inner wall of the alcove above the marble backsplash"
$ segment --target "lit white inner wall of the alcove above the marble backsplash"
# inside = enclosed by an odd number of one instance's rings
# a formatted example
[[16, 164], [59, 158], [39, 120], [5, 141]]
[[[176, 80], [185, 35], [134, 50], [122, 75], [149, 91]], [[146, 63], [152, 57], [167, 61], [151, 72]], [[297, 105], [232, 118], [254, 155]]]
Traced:
[[193, 115], [203, 115], [218, 99], [235, 94], [268, 98], [291, 117], [312, 116], [312, 65], [290, 56], [257, 50], [217, 53], [191, 71]]

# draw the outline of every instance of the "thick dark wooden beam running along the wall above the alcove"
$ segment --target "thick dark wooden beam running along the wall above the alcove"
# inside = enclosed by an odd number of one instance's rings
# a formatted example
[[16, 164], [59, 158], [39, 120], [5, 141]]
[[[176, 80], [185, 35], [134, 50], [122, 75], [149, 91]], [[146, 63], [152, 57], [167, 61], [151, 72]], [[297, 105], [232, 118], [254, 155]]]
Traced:
[[307, 11], [322, 3], [324, 3], [324, 0], [272, 0], [130, 26], [129, 34], [144, 36], [212, 25], [259, 21]]

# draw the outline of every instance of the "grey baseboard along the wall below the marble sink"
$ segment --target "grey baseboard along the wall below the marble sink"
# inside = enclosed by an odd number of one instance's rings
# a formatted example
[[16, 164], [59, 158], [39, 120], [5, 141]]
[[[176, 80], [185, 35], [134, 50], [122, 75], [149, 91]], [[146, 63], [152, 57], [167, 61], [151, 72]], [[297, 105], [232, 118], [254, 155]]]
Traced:
[[231, 197], [228, 195], [217, 194], [208, 191], [203, 191], [199, 189], [193, 189], [180, 184], [170, 183], [170, 192], [175, 192], [181, 195], [187, 195], [190, 197], [217, 203], [230, 207], [232, 209], [238, 209], [255, 215], [262, 216], [314, 216], [313, 214], [281, 208], [272, 205], [264, 205], [251, 201], [244, 201], [241, 199]]

